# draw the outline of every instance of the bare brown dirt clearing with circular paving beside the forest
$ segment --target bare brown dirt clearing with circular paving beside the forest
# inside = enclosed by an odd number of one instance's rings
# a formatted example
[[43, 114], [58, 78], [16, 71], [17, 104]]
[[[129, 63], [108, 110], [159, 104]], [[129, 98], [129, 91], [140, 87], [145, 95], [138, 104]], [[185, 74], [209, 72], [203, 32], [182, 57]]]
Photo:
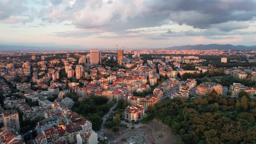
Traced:
[[111, 140], [122, 141], [124, 144], [174, 144], [180, 141], [171, 128], [161, 121], [154, 119], [149, 124], [139, 124], [135, 129], [121, 129], [118, 133], [106, 130], [105, 135]]

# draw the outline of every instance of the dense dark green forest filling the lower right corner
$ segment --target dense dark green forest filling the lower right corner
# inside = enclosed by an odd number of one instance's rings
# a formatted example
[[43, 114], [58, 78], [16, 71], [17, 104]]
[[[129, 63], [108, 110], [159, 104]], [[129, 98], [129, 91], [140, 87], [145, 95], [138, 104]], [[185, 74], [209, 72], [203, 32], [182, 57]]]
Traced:
[[253, 144], [256, 141], [256, 99], [220, 97], [166, 99], [148, 109], [147, 120], [158, 118], [181, 135], [181, 144]]

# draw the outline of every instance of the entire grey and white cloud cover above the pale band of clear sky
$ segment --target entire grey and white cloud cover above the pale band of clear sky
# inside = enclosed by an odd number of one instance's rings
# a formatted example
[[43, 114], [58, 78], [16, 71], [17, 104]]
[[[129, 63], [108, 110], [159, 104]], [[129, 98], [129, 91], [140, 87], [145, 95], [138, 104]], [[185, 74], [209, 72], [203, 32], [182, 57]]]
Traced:
[[[32, 3], [32, 4], [31, 4]], [[36, 7], [34, 7], [36, 5]], [[171, 39], [170, 37], [246, 35], [256, 20], [255, 0], [2, 0], [0, 23], [72, 25], [60, 37]], [[66, 24], [65, 24], [66, 23]], [[177, 32], [173, 25], [189, 27]], [[159, 27], [168, 25], [160, 29]], [[68, 26], [67, 26], [68, 27]], [[148, 29], [142, 29], [148, 28]], [[175, 26], [174, 26], [175, 28]], [[99, 32], [91, 32], [97, 29]], [[240, 29], [240, 30], [239, 30]], [[112, 33], [106, 35], [105, 33]], [[216, 36], [216, 37], [215, 37]]]

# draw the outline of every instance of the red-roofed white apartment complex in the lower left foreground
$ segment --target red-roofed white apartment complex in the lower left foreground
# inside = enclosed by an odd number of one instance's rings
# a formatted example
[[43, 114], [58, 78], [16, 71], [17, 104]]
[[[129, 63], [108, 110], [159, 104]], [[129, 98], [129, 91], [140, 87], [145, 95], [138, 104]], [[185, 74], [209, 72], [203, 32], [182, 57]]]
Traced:
[[36, 144], [56, 144], [67, 141], [69, 144], [97, 144], [97, 133], [92, 130], [92, 123], [76, 113], [66, 116], [69, 123], [59, 123], [54, 127], [43, 130], [34, 142]]

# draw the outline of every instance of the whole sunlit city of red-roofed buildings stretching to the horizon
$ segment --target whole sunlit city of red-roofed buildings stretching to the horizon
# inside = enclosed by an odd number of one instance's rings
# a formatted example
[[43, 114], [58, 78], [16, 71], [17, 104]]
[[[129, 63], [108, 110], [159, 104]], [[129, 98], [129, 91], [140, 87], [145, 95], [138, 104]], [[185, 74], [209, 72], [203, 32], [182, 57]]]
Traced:
[[255, 55], [217, 49], [0, 53], [0, 144], [148, 142], [143, 132], [129, 137], [125, 131], [166, 99], [203, 105], [213, 92], [255, 98]]

